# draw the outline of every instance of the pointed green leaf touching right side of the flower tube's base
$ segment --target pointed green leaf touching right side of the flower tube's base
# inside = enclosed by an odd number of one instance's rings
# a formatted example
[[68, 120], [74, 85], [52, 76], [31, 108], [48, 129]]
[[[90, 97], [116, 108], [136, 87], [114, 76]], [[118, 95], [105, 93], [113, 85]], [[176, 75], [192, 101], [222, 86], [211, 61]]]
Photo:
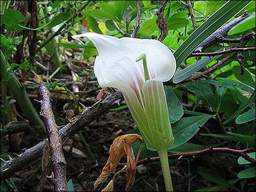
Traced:
[[169, 147], [169, 150], [176, 148], [189, 139], [191, 139], [199, 131], [199, 127], [211, 118], [211, 115], [199, 115], [192, 117], [185, 117], [172, 125], [174, 134], [174, 144]]

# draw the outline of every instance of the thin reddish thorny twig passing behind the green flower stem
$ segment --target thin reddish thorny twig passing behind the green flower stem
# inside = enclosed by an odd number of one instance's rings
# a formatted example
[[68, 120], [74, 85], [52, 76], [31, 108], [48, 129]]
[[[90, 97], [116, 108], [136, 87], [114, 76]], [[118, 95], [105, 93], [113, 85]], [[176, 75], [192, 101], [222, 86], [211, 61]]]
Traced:
[[[248, 155], [246, 155], [246, 153], [249, 153], [252, 150], [253, 150], [253, 148], [246, 148], [245, 150], [233, 150], [231, 148], [226, 148], [226, 147], [223, 147], [223, 148], [209, 147], [209, 148], [206, 148], [205, 150], [201, 150], [201, 151], [197, 151], [197, 152], [170, 154], [170, 155], [168, 155], [168, 158], [169, 159], [177, 159], [177, 158], [183, 158], [183, 157], [195, 157], [195, 156], [200, 156], [203, 154], [220, 152], [220, 153], [229, 153], [229, 154], [233, 154], [233, 155], [242, 156], [244, 159], [246, 159], [247, 161], [249, 161], [250, 163], [255, 165], [255, 160], [253, 158], [249, 157]], [[149, 158], [139, 160], [137, 165], [150, 163], [150, 162], [156, 162], [156, 161], [160, 161], [159, 157], [149, 157]], [[124, 166], [125, 164], [126, 163], [119, 163], [118, 166]]]

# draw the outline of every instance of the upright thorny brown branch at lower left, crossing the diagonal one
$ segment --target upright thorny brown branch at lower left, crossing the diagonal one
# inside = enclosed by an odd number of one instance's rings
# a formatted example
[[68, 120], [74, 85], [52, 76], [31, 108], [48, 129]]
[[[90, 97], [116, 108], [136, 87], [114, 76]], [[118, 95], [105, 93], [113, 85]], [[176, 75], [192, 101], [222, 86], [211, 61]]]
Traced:
[[54, 114], [51, 109], [50, 92], [47, 87], [41, 85], [38, 87], [38, 97], [41, 102], [41, 118], [45, 123], [48, 141], [51, 150], [51, 160], [54, 175], [54, 190], [67, 191], [66, 178], [66, 160], [63, 154], [62, 141], [58, 132], [57, 124], [54, 120]]

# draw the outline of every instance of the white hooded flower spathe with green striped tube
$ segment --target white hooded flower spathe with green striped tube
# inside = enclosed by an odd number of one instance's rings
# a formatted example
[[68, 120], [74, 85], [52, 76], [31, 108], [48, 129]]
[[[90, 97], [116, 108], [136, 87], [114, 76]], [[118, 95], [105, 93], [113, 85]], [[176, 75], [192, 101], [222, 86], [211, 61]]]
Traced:
[[[97, 33], [83, 33], [95, 45], [94, 73], [101, 87], [119, 89], [148, 146], [167, 148], [173, 143], [163, 83], [176, 71], [173, 53], [160, 41], [116, 38]], [[143, 61], [146, 57], [149, 79], [145, 79]]]

